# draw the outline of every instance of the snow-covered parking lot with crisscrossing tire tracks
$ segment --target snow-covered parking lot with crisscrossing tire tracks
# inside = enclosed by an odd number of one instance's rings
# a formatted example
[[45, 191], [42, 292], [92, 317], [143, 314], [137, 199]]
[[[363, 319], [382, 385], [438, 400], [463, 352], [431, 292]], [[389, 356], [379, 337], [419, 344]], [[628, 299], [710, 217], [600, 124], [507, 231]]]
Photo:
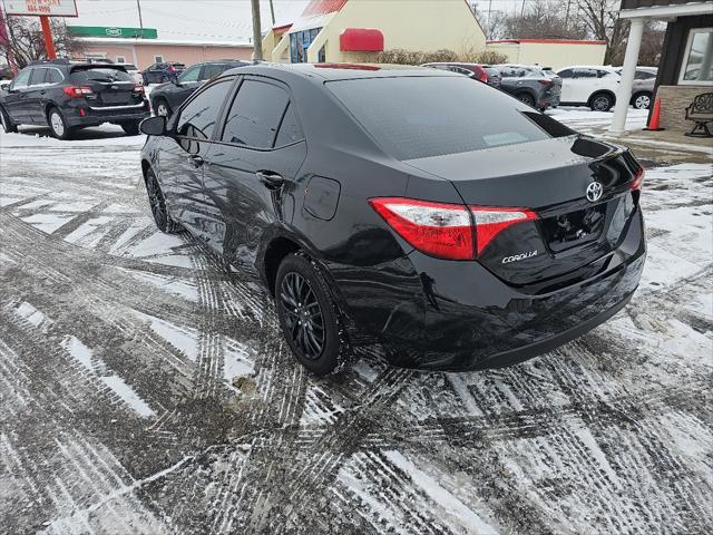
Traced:
[[0, 134], [0, 532], [713, 533], [710, 156], [645, 160], [644, 280], [582, 339], [315, 379], [255, 281], [156, 230], [120, 134]]

